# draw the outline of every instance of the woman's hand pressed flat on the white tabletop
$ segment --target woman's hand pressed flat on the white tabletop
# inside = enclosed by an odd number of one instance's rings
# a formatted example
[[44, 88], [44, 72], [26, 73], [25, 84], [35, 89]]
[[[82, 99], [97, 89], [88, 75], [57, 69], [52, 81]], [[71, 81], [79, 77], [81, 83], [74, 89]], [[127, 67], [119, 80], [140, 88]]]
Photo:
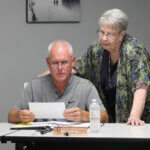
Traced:
[[132, 126], [134, 126], [134, 125], [136, 125], [136, 126], [141, 125], [141, 126], [143, 126], [143, 125], [145, 125], [145, 122], [142, 121], [141, 119], [139, 119], [138, 117], [130, 116], [128, 118], [127, 125], [132, 125]]

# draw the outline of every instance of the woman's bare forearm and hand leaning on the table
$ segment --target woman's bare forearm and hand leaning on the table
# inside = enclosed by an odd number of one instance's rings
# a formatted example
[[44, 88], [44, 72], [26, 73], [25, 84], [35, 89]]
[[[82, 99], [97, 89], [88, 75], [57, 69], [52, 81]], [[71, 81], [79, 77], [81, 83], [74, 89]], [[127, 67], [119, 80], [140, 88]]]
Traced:
[[144, 110], [148, 88], [149, 86], [146, 86], [135, 91], [131, 113], [127, 122], [128, 125], [145, 124], [145, 122], [141, 120], [141, 116]]

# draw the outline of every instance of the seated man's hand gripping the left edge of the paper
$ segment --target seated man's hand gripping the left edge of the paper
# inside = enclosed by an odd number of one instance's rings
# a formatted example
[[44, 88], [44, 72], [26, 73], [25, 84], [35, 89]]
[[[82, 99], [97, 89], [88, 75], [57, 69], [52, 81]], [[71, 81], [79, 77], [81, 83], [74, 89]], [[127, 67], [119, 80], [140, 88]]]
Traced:
[[23, 123], [32, 122], [35, 119], [34, 114], [29, 110], [20, 111], [20, 119]]

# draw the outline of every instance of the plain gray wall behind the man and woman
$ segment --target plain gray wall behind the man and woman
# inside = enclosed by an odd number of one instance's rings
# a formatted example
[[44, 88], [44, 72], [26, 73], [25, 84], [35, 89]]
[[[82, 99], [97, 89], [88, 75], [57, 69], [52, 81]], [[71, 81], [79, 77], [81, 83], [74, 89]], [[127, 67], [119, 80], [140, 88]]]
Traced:
[[[97, 39], [97, 20], [110, 8], [119, 8], [129, 17], [128, 33], [150, 48], [149, 0], [81, 0], [81, 22], [63, 24], [27, 24], [25, 0], [0, 0], [0, 122], [7, 122], [8, 111], [16, 103], [23, 82], [47, 70], [48, 44], [56, 39], [71, 42], [81, 56]], [[14, 144], [0, 144], [14, 149]]]

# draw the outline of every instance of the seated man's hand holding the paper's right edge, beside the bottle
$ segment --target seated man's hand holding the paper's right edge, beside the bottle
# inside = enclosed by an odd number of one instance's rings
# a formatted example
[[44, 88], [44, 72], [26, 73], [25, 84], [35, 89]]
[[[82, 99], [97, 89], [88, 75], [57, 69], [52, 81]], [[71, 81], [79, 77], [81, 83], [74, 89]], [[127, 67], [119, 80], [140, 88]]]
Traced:
[[89, 121], [89, 113], [80, 108], [70, 108], [64, 111], [64, 117], [71, 121]]

